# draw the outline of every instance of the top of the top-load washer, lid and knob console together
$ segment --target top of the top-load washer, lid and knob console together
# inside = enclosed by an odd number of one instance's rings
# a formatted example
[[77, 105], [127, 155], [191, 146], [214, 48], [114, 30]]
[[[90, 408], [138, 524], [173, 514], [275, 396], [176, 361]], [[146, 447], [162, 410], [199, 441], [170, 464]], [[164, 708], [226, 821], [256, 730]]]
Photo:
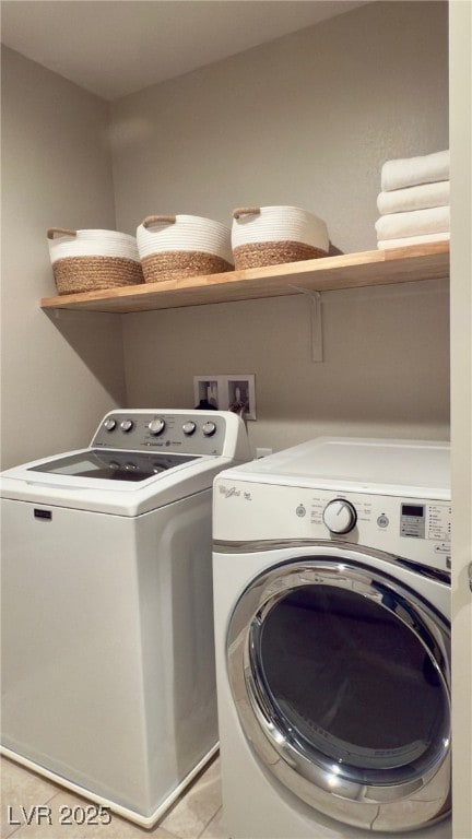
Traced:
[[244, 423], [229, 411], [111, 411], [86, 449], [12, 466], [2, 499], [140, 516], [210, 491], [215, 475], [249, 458]]

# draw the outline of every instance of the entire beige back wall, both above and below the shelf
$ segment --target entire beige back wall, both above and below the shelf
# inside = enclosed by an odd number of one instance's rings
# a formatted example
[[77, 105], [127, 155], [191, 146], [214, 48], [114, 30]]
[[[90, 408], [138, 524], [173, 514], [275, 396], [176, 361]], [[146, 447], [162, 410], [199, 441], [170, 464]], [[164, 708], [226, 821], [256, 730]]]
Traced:
[[[445, 2], [376, 2], [111, 106], [118, 227], [150, 213], [231, 226], [238, 205], [324, 218], [333, 252], [376, 247], [386, 159], [448, 147]], [[196, 374], [256, 374], [252, 446], [317, 434], [449, 435], [447, 281], [127, 315], [128, 400], [192, 406]]]

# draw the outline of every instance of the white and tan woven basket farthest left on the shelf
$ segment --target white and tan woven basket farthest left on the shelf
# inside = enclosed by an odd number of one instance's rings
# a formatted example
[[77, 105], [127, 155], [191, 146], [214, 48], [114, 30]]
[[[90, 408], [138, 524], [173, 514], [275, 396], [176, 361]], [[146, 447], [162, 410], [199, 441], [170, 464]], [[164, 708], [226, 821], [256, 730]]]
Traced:
[[51, 227], [47, 237], [58, 294], [144, 282], [134, 236], [116, 231]]

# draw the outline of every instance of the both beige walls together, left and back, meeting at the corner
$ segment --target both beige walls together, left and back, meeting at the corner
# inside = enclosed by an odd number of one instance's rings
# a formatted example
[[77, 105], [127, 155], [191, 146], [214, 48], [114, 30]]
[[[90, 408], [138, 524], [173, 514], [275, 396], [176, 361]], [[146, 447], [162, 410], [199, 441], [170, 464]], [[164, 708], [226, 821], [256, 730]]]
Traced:
[[82, 446], [116, 403], [190, 406], [206, 373], [256, 374], [253, 447], [447, 437], [446, 281], [324, 294], [322, 364], [302, 296], [123, 318], [37, 305], [54, 294], [54, 225], [229, 224], [238, 204], [280, 202], [326, 218], [333, 248], [375, 247], [381, 163], [447, 147], [447, 80], [442, 2], [363, 7], [126, 97], [110, 122], [104, 102], [5, 50], [4, 465]]

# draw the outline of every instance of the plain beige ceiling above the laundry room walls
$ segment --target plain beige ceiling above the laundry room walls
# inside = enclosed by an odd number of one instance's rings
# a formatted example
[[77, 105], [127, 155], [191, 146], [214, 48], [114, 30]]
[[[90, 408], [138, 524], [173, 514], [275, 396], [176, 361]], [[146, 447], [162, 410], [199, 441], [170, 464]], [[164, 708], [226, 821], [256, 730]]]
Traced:
[[114, 101], [367, 0], [2, 0], [1, 40]]

